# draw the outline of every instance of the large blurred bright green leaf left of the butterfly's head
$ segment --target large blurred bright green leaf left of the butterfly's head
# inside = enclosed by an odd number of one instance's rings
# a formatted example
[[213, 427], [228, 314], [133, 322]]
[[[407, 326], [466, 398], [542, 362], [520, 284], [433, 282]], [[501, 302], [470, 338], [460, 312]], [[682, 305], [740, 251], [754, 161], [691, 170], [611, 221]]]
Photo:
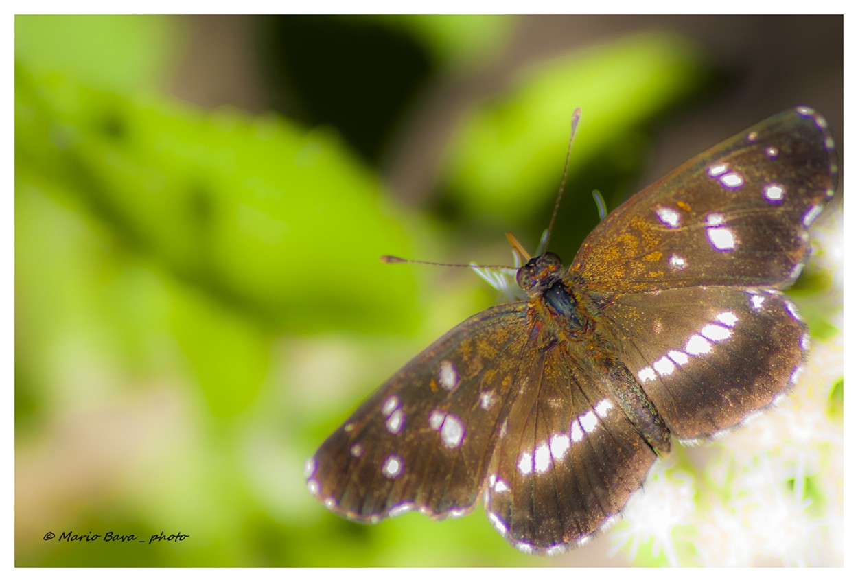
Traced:
[[401, 271], [373, 264], [378, 276], [347, 293], [336, 283], [372, 270], [366, 258], [402, 248], [405, 233], [378, 179], [331, 131], [203, 115], [47, 71], [19, 68], [16, 80], [21, 177], [62, 184], [176, 276], [275, 328], [399, 325], [413, 311], [405, 300], [367, 309]]

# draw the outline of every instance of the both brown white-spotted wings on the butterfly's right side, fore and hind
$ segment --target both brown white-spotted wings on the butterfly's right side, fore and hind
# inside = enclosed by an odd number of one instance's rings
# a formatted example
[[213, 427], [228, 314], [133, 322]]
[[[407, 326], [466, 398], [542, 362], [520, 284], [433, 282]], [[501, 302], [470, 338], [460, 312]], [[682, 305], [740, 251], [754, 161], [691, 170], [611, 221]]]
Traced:
[[734, 426], [794, 381], [808, 339], [776, 288], [801, 272], [836, 186], [825, 119], [798, 107], [688, 161], [585, 240], [571, 276], [681, 439]]

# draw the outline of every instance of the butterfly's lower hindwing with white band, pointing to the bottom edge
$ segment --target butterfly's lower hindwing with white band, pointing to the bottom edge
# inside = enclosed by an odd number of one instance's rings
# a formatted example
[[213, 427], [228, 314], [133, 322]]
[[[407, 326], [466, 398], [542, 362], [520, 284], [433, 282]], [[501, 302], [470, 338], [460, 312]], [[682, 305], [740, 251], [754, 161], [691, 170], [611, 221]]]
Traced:
[[633, 382], [583, 343], [526, 347], [527, 381], [498, 440], [486, 512], [522, 551], [583, 543], [643, 485], [656, 453], [613, 400]]

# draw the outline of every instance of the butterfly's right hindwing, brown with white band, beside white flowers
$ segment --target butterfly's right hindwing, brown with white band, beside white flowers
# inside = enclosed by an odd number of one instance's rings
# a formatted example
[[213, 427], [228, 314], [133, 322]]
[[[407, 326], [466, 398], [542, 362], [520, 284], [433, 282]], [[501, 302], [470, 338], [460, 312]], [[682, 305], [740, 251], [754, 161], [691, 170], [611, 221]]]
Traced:
[[792, 383], [807, 349], [795, 306], [774, 291], [675, 288], [617, 297], [602, 330], [674, 436], [733, 427]]

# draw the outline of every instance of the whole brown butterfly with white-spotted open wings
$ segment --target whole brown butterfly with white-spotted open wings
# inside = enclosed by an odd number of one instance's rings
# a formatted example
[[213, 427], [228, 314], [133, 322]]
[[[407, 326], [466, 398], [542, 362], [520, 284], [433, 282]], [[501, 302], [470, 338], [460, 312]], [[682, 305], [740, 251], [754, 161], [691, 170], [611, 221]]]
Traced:
[[614, 209], [568, 268], [517, 270], [486, 309], [388, 379], [306, 464], [330, 510], [377, 523], [470, 512], [517, 549], [586, 542], [680, 441], [710, 439], [795, 384], [806, 325], [782, 294], [837, 189], [818, 112], [782, 112]]

